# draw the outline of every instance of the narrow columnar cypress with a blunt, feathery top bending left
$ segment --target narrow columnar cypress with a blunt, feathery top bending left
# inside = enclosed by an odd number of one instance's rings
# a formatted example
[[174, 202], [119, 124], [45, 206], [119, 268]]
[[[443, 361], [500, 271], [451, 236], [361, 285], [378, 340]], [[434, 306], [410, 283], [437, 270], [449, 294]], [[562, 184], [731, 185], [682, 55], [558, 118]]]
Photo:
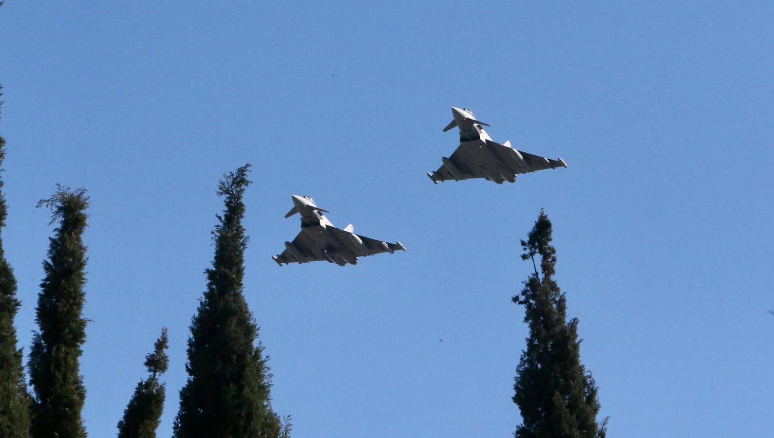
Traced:
[[29, 353], [29, 376], [35, 390], [32, 435], [36, 438], [86, 436], [80, 411], [86, 389], [78, 362], [86, 341], [83, 312], [86, 282], [86, 229], [89, 198], [86, 190], [57, 186], [52, 197], [38, 207], [52, 211], [51, 224], [59, 221], [49, 238], [46, 276], [40, 283], [36, 322]]

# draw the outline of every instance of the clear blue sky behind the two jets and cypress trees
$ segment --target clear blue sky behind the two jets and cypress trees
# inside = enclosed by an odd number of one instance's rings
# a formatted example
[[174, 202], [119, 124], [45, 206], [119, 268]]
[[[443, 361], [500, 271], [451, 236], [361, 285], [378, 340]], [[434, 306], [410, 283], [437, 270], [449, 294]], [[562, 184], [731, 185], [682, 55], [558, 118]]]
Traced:
[[[217, 180], [252, 163], [245, 296], [294, 436], [510, 436], [541, 207], [610, 435], [769, 435], [774, 7], [743, 3], [9, 0], [21, 345], [53, 228], [34, 206], [84, 186], [88, 432], [115, 434], [167, 326], [169, 436]], [[452, 105], [569, 168], [433, 185]], [[291, 194], [408, 252], [279, 268]]]

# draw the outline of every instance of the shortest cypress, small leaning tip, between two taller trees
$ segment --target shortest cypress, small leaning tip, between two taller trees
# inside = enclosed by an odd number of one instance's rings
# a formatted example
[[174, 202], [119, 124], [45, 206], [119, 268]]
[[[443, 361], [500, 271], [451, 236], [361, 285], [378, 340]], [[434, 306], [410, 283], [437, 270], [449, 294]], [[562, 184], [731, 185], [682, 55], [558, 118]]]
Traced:
[[159, 375], [163, 375], [170, 366], [170, 358], [166, 355], [169, 340], [166, 327], [161, 330], [161, 337], [153, 344], [153, 352], [146, 354], [145, 366], [150, 373], [149, 378], [140, 380], [135, 393], [124, 410], [124, 418], [118, 422], [118, 438], [156, 438], [156, 428], [161, 423], [164, 409], [165, 389], [159, 383]]

